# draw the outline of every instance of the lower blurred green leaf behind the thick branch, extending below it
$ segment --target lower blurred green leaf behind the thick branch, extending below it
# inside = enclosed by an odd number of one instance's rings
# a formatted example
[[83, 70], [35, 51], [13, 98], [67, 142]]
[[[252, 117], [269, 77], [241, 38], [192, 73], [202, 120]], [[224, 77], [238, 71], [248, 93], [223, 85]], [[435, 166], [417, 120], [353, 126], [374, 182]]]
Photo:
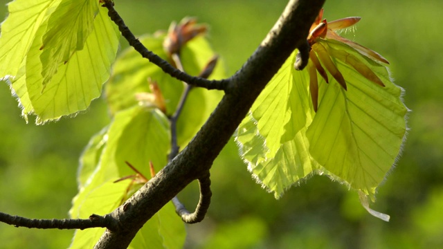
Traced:
[[[127, 199], [130, 180], [113, 181], [135, 174], [125, 161], [150, 178], [150, 161], [156, 171], [166, 165], [169, 141], [168, 118], [161, 111], [134, 106], [116, 113], [109, 127], [91, 138], [82, 155], [80, 192], [73, 199], [71, 217], [86, 219], [93, 213], [107, 214], [117, 208]], [[76, 231], [71, 248], [91, 248], [103, 231]], [[168, 203], [143, 226], [130, 247], [181, 248], [185, 237], [184, 224]]]

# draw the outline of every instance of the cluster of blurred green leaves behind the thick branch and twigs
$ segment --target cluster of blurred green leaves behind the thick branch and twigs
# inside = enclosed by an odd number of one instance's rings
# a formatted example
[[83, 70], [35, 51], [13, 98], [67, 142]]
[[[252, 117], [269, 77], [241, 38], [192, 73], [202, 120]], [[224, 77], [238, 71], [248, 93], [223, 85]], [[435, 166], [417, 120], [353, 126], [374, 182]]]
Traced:
[[[141, 38], [141, 42], [152, 48], [154, 53], [168, 59], [163, 52], [163, 39], [164, 36], [146, 36]], [[203, 37], [193, 39], [181, 53], [183, 65], [193, 74], [198, 74], [212, 56], [213, 51]], [[148, 77], [158, 84], [165, 99], [166, 113], [158, 109], [154, 102], [136, 99], [137, 94], [152, 93]], [[221, 66], [217, 66], [213, 77], [225, 77]], [[80, 192], [73, 200], [71, 217], [107, 214], [123, 203], [129, 197], [127, 194], [140, 187], [129, 185], [129, 180], [112, 183], [135, 173], [127, 167], [125, 161], [145, 176], [150, 174], [147, 167], [150, 163], [156, 172], [166, 165], [171, 140], [167, 115], [174, 113], [183, 90], [182, 82], [165, 75], [136, 51], [128, 49], [122, 53], [106, 89], [107, 103], [114, 118], [109, 127], [91, 138], [82, 155], [78, 172]], [[220, 97], [217, 92], [192, 89], [190, 101], [186, 102], [181, 113], [183, 121], [179, 122], [179, 145], [186, 146]], [[93, 246], [101, 234], [102, 229], [78, 230], [71, 248]], [[168, 203], [143, 226], [131, 246], [181, 248], [185, 237], [184, 225], [175, 214], [172, 203]]]

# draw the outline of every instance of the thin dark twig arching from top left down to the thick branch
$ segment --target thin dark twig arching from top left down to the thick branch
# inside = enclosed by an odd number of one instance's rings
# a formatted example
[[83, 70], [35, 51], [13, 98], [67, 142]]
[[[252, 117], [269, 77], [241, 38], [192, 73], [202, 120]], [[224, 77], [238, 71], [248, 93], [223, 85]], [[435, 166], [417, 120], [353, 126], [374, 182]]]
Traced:
[[134, 47], [134, 49], [140, 53], [144, 58], [149, 59], [150, 62], [156, 64], [161, 68], [165, 73], [168, 73], [172, 77], [177, 78], [187, 84], [192, 86], [203, 87], [208, 90], [217, 89], [217, 90], [225, 90], [227, 80], [206, 80], [202, 77], [194, 77], [188, 75], [187, 73], [174, 68], [167, 61], [152, 53], [152, 51], [148, 50], [136, 37], [133, 35], [131, 30], [126, 26], [123, 19], [118, 15], [118, 12], [114, 9], [114, 3], [112, 0], [103, 0], [104, 6], [109, 10], [108, 15], [111, 17], [111, 20], [118, 26], [118, 29], [122, 33], [123, 37], [129, 42], [129, 45]]

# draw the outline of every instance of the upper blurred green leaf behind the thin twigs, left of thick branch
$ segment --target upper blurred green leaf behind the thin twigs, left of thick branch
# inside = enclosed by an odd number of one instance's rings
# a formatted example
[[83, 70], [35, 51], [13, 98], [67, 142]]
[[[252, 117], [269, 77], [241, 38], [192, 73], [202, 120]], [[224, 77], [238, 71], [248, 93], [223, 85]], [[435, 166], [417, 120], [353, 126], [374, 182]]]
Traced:
[[[163, 51], [163, 36], [145, 36], [140, 41], [153, 53], [163, 59], [168, 59]], [[185, 70], [191, 75], [197, 75], [206, 66], [214, 52], [204, 37], [195, 37], [183, 47], [181, 60]], [[222, 62], [219, 62], [211, 78], [224, 78]], [[184, 84], [169, 75], [161, 68], [141, 57], [134, 49], [128, 48], [118, 57], [114, 65], [113, 75], [106, 86], [106, 98], [111, 113], [126, 109], [138, 104], [136, 93], [150, 92], [147, 79], [154, 80], [161, 89], [165, 98], [166, 112], [172, 115], [184, 91]], [[197, 133], [199, 127], [215, 109], [221, 99], [221, 92], [206, 91], [195, 88], [190, 91], [188, 100], [177, 124], [178, 142], [180, 147], [186, 146], [188, 141]]]

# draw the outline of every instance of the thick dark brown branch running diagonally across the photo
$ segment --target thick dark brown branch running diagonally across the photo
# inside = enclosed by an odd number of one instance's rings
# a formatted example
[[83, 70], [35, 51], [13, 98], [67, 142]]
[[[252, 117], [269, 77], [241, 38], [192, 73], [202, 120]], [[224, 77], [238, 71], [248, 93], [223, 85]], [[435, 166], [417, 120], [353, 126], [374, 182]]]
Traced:
[[[255, 53], [233, 77], [224, 81], [224, 84], [227, 84], [224, 98], [195, 138], [123, 204], [127, 207], [125, 212], [123, 206], [120, 206], [109, 214], [118, 219], [120, 229], [108, 229], [102, 234], [95, 248], [127, 248], [138, 230], [152, 215], [190, 182], [207, 174], [264, 86], [278, 72], [293, 50], [306, 42], [309, 28], [324, 2], [325, 0], [289, 1], [280, 19]], [[111, 18], [118, 26], [122, 26], [123, 21], [116, 18], [109, 0], [106, 1], [106, 6]], [[134, 37], [127, 34], [130, 33], [127, 28], [120, 30], [125, 32], [125, 37]], [[134, 42], [135, 38], [129, 40], [138, 49], [139, 44]], [[188, 82], [184, 77], [181, 79]]]

